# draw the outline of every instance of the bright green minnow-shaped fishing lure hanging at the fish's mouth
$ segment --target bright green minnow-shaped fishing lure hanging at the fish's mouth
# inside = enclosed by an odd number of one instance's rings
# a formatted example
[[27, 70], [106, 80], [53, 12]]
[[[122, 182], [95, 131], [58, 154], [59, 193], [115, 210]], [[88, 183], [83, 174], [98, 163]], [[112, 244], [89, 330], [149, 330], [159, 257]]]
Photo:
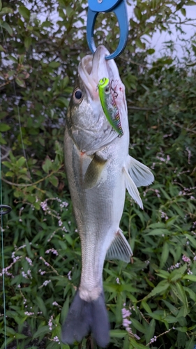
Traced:
[[123, 129], [121, 126], [121, 119], [119, 115], [119, 110], [116, 106], [115, 98], [118, 96], [116, 91], [112, 89], [112, 84], [108, 77], [103, 77], [98, 82], [98, 94], [100, 98], [100, 104], [103, 107], [107, 121], [110, 122], [110, 125], [114, 130], [119, 133], [119, 137], [123, 135]]

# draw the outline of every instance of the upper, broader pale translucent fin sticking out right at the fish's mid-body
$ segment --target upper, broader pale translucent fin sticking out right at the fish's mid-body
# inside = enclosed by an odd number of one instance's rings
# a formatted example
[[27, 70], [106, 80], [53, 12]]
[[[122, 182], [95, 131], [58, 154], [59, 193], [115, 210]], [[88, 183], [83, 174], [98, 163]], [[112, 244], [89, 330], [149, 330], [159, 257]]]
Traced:
[[149, 168], [140, 161], [135, 160], [132, 156], [127, 158], [127, 169], [130, 177], [133, 179], [135, 185], [139, 186], [149, 186], [153, 183], [154, 177]]

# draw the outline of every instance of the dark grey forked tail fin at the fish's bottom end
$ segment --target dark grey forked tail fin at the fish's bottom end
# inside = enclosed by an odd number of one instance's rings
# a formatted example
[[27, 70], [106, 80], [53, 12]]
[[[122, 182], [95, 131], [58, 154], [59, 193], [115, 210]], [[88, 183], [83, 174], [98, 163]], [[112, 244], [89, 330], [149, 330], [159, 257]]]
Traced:
[[92, 332], [98, 346], [105, 348], [110, 341], [109, 329], [103, 293], [96, 301], [86, 302], [77, 292], [62, 326], [61, 340], [72, 344]]

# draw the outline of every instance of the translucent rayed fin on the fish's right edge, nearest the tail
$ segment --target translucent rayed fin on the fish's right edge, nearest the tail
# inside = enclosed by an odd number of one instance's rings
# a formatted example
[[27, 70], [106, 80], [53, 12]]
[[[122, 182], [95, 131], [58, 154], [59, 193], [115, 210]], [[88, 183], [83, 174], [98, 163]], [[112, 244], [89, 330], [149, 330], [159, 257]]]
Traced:
[[122, 230], [119, 228], [116, 233], [112, 244], [107, 250], [105, 259], [107, 260], [123, 260], [123, 262], [130, 262], [130, 257], [133, 255], [131, 248], [123, 235]]

